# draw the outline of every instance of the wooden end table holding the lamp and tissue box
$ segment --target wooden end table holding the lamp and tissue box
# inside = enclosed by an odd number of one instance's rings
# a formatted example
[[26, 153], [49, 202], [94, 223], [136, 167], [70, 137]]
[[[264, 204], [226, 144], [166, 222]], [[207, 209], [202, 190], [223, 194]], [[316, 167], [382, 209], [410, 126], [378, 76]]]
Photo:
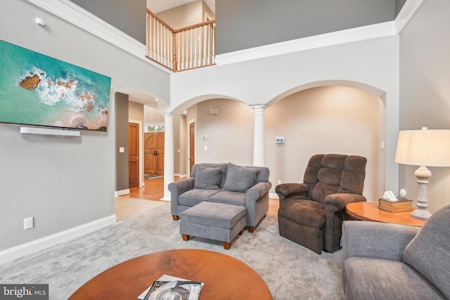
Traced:
[[425, 220], [415, 219], [411, 211], [389, 212], [378, 208], [378, 202], [353, 202], [345, 207], [347, 214], [363, 221], [396, 223], [409, 226], [423, 226]]

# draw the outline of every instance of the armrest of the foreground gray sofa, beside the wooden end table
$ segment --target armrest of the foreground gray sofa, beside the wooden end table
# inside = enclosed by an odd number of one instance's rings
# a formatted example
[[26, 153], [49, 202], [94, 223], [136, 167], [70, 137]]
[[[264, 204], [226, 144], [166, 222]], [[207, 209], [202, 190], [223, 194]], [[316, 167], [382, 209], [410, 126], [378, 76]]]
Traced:
[[344, 221], [342, 261], [354, 256], [401, 261], [406, 245], [419, 229], [392, 223]]

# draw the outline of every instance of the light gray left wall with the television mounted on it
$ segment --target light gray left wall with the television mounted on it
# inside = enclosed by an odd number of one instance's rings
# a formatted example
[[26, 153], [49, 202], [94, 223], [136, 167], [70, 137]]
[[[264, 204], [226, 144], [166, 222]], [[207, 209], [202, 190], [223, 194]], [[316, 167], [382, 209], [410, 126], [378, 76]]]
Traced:
[[[0, 39], [112, 78], [107, 133], [23, 136], [20, 126], [0, 124], [1, 254], [114, 216], [114, 93], [136, 89], [169, 98], [169, 75], [26, 1], [0, 1], [0, 11]], [[30, 216], [35, 226], [23, 230]]]

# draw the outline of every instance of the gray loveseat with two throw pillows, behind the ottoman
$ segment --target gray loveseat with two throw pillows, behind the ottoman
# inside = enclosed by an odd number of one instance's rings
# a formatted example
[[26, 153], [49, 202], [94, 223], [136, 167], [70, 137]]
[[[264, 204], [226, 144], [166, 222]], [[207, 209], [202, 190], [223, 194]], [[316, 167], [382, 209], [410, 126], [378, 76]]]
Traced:
[[247, 210], [246, 226], [252, 233], [269, 210], [269, 169], [236, 164], [195, 164], [190, 178], [169, 183], [171, 214], [203, 201], [239, 205]]

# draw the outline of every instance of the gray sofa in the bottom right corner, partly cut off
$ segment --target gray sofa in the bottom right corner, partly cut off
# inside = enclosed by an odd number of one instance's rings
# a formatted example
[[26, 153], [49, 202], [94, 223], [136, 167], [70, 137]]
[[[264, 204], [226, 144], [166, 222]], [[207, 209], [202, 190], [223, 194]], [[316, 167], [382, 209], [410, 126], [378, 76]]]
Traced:
[[344, 221], [347, 299], [450, 299], [450, 205], [422, 228]]

